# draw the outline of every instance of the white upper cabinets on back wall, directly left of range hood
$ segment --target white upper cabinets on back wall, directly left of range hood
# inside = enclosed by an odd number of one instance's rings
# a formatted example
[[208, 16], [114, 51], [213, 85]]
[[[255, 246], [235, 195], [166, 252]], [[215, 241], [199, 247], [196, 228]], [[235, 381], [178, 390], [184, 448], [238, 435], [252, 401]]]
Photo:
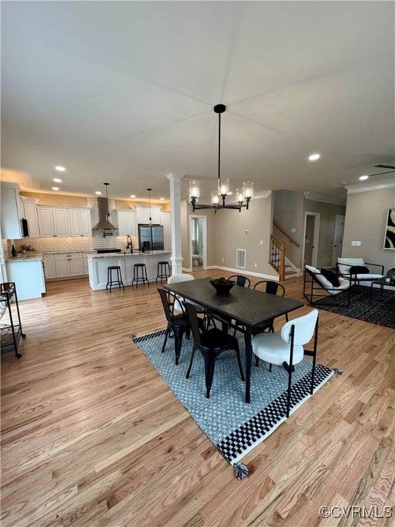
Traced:
[[38, 227], [42, 237], [91, 236], [91, 210], [39, 205]]

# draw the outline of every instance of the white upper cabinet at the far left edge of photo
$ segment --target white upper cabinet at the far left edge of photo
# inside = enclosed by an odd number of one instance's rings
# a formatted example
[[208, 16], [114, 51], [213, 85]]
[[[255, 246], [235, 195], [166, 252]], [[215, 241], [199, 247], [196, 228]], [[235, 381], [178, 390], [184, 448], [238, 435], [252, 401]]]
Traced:
[[4, 239], [21, 239], [19, 185], [1, 183], [1, 235]]

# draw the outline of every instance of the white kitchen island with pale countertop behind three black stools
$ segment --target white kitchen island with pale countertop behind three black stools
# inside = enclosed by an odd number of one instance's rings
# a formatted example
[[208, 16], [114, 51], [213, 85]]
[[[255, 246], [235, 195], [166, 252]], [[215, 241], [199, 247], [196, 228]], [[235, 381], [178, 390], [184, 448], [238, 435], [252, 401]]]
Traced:
[[107, 269], [109, 266], [119, 266], [124, 285], [132, 285], [134, 264], [145, 264], [148, 280], [155, 282], [158, 272], [158, 261], [169, 261], [170, 255], [169, 250], [88, 255], [89, 285], [91, 285], [93, 291], [106, 289]]

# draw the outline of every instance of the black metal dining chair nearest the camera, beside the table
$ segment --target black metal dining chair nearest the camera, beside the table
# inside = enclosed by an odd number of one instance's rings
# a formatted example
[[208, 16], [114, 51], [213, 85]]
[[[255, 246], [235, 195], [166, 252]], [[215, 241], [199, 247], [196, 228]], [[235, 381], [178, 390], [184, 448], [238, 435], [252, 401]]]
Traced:
[[[190, 303], [184, 303], [184, 307], [187, 310], [193, 336], [193, 350], [187, 371], [187, 379], [189, 379], [189, 375], [191, 374], [195, 351], [199, 349], [204, 358], [207, 398], [210, 397], [211, 386], [213, 384], [215, 361], [223, 351], [233, 350], [236, 352], [241, 380], [246, 380], [244, 378], [243, 367], [241, 366], [240, 349], [237, 338], [217, 329], [217, 327], [208, 330], [202, 329], [199, 324], [200, 319], [197, 317], [195, 306]], [[210, 317], [210, 315], [206, 316]]]

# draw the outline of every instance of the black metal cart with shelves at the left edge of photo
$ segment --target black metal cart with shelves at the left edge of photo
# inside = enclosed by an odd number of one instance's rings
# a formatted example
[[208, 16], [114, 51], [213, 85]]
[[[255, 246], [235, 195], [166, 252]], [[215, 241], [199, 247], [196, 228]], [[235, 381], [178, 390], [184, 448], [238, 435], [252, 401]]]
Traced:
[[[16, 358], [19, 359], [22, 357], [22, 354], [18, 351], [19, 342], [21, 338], [25, 338], [26, 335], [22, 331], [15, 282], [5, 282], [0, 284], [0, 302], [1, 307], [6, 307], [8, 309], [8, 316], [10, 318], [8, 324], [0, 324], [1, 353], [14, 350]], [[14, 320], [15, 317], [12, 314], [13, 307], [16, 307], [17, 320]]]

